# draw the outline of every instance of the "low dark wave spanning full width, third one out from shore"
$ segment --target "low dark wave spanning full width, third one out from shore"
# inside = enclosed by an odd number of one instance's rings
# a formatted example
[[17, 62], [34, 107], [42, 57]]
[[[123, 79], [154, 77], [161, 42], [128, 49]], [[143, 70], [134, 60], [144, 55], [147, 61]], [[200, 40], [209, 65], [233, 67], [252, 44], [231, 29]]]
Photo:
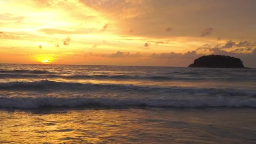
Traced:
[[[50, 73], [50, 74], [49, 74]], [[48, 74], [48, 75], [42, 75]], [[38, 72], [37, 75], [32, 74], [7, 74], [0, 72], [0, 78], [40, 78], [40, 79], [50, 79], [50, 78], [63, 78], [63, 79], [75, 79], [75, 80], [152, 80], [152, 81], [237, 81], [237, 80], [247, 80], [254, 81], [256, 77], [177, 77], [177, 76], [140, 76], [140, 75], [54, 75], [53, 72]]]

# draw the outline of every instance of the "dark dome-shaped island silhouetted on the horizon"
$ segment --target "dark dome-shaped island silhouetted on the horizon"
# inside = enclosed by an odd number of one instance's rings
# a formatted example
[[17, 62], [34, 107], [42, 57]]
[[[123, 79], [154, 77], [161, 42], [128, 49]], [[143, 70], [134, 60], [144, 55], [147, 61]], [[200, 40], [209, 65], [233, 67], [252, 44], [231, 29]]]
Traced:
[[244, 67], [241, 59], [224, 55], [201, 56], [195, 59], [194, 63], [190, 64], [189, 67], [247, 68]]

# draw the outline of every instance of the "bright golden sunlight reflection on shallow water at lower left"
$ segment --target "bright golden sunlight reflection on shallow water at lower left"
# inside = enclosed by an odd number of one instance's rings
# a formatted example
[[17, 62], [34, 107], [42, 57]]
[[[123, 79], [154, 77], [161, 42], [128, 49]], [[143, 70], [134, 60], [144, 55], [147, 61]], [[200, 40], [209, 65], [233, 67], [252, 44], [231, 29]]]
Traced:
[[[99, 143], [112, 136], [125, 136], [127, 121], [120, 112], [84, 110], [30, 114], [26, 112], [1, 113], [0, 139], [3, 141], [62, 143], [70, 140]], [[129, 119], [135, 119], [130, 115]], [[133, 128], [134, 125], [130, 125]], [[25, 139], [24, 139], [25, 138]]]

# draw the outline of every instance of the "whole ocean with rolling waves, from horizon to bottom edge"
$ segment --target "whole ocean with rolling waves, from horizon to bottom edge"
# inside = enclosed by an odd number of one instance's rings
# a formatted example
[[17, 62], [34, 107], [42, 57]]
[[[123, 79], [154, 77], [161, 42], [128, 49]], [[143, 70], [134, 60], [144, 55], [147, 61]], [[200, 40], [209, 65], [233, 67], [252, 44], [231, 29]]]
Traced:
[[0, 64], [0, 143], [256, 143], [256, 69]]

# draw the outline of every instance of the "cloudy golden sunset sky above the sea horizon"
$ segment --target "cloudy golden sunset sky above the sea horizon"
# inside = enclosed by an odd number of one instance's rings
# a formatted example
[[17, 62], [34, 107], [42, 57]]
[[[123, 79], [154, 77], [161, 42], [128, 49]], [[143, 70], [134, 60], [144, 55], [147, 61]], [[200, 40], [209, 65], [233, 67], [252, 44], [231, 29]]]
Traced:
[[256, 68], [256, 0], [0, 0], [0, 63]]

